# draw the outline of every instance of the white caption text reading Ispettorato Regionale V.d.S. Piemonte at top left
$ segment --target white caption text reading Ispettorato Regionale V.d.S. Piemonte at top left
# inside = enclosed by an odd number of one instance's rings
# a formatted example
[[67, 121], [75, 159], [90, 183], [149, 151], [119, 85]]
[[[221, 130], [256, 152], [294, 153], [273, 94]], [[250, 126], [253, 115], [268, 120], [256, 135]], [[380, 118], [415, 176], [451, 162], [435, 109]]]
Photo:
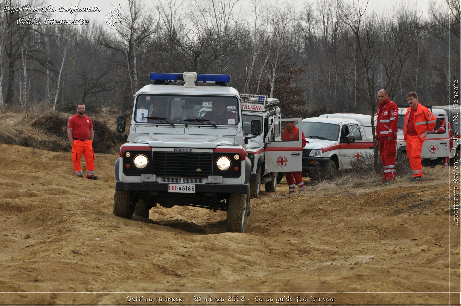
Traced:
[[[46, 13], [53, 13], [53, 12], [65, 12], [72, 15], [78, 12], [101, 12], [101, 8], [99, 6], [91, 6], [91, 7], [79, 7], [79, 6], [59, 6], [58, 8], [53, 6], [44, 6], [44, 7], [34, 7], [31, 5], [25, 6], [4, 6], [3, 12], [7, 12], [10, 14], [15, 13], [35, 13], [35, 14], [46, 14]], [[16, 18], [18, 24], [89, 24], [89, 20], [85, 18], [79, 19], [56, 19], [53, 17], [20, 17]]]

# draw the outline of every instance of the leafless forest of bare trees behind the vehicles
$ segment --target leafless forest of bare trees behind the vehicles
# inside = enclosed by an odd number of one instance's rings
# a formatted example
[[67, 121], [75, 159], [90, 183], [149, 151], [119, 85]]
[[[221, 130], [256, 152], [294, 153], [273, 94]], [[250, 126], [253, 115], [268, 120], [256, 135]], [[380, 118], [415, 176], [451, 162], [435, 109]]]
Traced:
[[230, 74], [240, 92], [280, 98], [301, 117], [371, 114], [380, 88], [397, 104], [411, 90], [426, 105], [449, 104], [459, 80], [459, 0], [430, 2], [428, 15], [372, 11], [366, 0], [188, 2], [122, 1], [114, 26], [45, 26], [18, 22], [44, 14], [4, 9], [25, 1], [0, 0], [0, 112], [77, 102], [123, 112], [149, 72]]

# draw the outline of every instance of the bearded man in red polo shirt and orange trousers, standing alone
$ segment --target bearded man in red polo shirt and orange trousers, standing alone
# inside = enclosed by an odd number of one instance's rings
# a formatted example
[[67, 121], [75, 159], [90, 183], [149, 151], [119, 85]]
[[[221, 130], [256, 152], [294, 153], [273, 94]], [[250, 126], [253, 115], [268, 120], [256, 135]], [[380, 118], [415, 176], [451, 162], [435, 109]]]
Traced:
[[72, 116], [67, 123], [67, 137], [72, 146], [72, 162], [76, 177], [83, 177], [80, 159], [85, 157], [87, 174], [86, 178], [97, 180], [95, 176], [95, 152], [93, 151], [93, 122], [85, 115], [85, 105], [77, 104], [77, 114]]

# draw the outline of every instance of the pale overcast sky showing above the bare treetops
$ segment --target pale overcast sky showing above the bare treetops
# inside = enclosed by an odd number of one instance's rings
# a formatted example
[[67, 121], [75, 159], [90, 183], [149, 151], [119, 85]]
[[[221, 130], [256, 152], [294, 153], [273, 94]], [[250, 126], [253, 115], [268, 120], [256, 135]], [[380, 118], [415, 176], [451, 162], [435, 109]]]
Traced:
[[[146, 3], [152, 0], [145, 0]], [[206, 1], [206, 0], [205, 0]], [[347, 0], [346, 0], [347, 1]], [[349, 0], [352, 1], [352, 0]], [[364, 0], [362, 0], [363, 2]], [[376, 10], [378, 12], [389, 12], [392, 10], [393, 6], [399, 6], [401, 3], [408, 4], [410, 7], [416, 8], [418, 11], [422, 12], [423, 16], [427, 16], [427, 5], [428, 2], [431, 0], [370, 0], [370, 7], [367, 8], [367, 12], [371, 10]], [[59, 19], [73, 19], [73, 15], [65, 12], [58, 12], [59, 6], [65, 7], [72, 7], [78, 4], [78, 0], [47, 0], [48, 4], [52, 7], [56, 8], [57, 18]], [[93, 7], [98, 6], [101, 8], [101, 12], [80, 12], [77, 15], [77, 19], [84, 17], [85, 19], [89, 20], [96, 20], [100, 23], [104, 23], [106, 18], [105, 14], [114, 10], [114, 6], [120, 4], [122, 9], [126, 6], [128, 1], [126, 0], [80, 0], [79, 7]], [[247, 2], [246, 0], [242, 0], [242, 3]], [[316, 0], [298, 0], [296, 3], [302, 5], [305, 2], [312, 2], [315, 3]], [[356, 0], [354, 0], [356, 2]], [[444, 0], [436, 0], [438, 3], [444, 3]], [[186, 5], [187, 1], [183, 2]], [[109, 27], [109, 26], [107, 26]]]

